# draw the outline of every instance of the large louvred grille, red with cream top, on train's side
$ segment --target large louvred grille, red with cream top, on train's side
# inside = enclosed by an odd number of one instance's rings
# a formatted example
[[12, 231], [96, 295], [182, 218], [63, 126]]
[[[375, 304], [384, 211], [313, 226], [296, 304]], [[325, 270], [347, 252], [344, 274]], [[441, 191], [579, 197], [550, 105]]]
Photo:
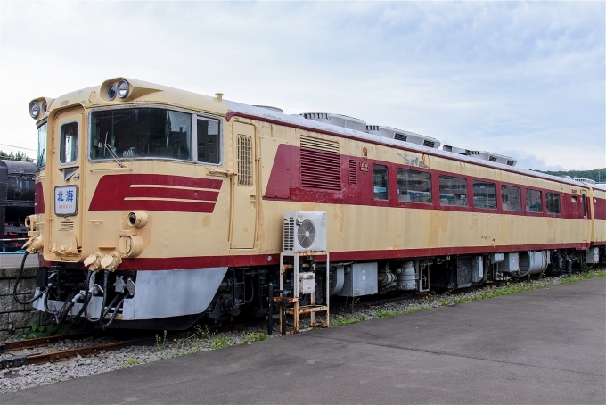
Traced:
[[340, 190], [339, 143], [301, 136], [300, 145], [301, 186]]

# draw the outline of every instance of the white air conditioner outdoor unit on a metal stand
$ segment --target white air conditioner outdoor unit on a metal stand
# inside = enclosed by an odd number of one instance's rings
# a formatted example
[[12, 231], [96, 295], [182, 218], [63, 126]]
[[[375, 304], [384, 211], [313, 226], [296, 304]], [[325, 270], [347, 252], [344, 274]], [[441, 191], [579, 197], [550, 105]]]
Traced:
[[326, 212], [284, 211], [284, 252], [326, 250]]

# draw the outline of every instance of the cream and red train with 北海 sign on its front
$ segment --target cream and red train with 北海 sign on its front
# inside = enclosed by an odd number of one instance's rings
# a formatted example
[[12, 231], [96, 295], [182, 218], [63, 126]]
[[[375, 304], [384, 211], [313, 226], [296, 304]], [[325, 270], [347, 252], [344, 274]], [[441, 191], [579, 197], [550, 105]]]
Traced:
[[328, 272], [316, 264], [322, 302], [565, 271], [606, 245], [606, 190], [345, 116], [122, 78], [29, 111], [34, 305], [58, 320], [263, 316], [285, 251], [330, 252]]

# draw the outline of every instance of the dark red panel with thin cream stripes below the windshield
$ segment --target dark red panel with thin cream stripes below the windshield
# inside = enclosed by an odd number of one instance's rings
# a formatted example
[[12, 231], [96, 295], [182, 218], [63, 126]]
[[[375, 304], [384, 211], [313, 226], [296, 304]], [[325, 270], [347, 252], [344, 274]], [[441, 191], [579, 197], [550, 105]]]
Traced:
[[[99, 184], [94, 190], [93, 199], [91, 200], [88, 210], [150, 210], [208, 213], [215, 209], [218, 191], [189, 190], [159, 186], [219, 190], [222, 183], [222, 180], [187, 178], [183, 176], [151, 174], [106, 175], [99, 180]], [[130, 200], [130, 198], [151, 198], [151, 200]], [[166, 201], [153, 200], [153, 198], [172, 198], [194, 201]]]

